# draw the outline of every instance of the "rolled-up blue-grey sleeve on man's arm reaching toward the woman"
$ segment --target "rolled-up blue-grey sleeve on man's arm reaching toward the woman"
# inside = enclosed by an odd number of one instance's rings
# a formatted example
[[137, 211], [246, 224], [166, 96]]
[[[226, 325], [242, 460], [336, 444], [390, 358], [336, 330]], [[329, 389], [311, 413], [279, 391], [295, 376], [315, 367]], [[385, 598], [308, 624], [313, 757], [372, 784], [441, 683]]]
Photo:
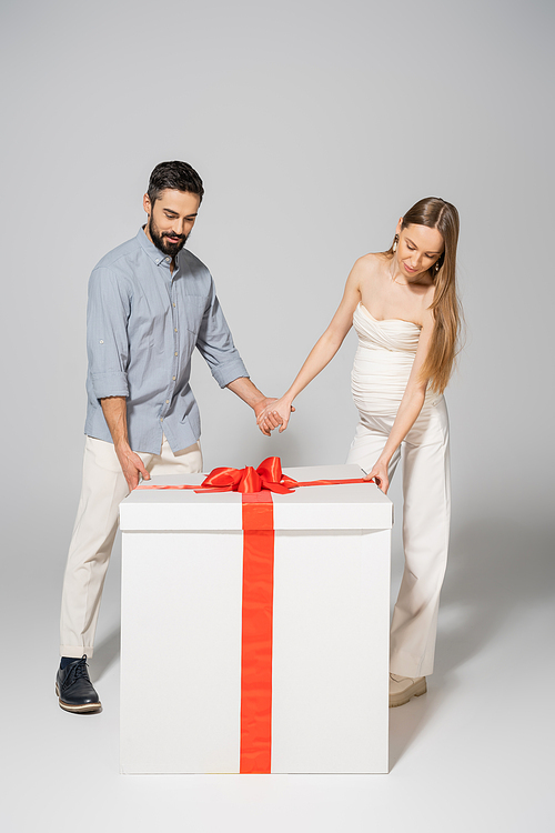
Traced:
[[225, 388], [226, 384], [242, 377], [249, 379], [249, 372], [233, 343], [233, 337], [215, 294], [213, 282], [196, 337], [196, 348], [220, 388]]

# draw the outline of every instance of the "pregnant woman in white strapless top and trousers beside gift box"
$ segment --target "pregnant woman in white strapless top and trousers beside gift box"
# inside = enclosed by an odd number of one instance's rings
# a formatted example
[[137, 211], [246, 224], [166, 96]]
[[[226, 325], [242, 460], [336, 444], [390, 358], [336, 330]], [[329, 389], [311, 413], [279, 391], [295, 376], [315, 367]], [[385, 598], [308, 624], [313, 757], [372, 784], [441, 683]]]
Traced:
[[391, 249], [354, 264], [332, 322], [289, 391], [259, 416], [287, 426], [295, 397], [333, 359], [354, 324], [352, 372], [360, 422], [347, 463], [387, 492], [403, 456], [405, 570], [391, 626], [390, 706], [426, 691], [433, 671], [450, 525], [448, 418], [443, 391], [460, 331], [455, 287], [458, 213], [420, 200], [398, 221]]

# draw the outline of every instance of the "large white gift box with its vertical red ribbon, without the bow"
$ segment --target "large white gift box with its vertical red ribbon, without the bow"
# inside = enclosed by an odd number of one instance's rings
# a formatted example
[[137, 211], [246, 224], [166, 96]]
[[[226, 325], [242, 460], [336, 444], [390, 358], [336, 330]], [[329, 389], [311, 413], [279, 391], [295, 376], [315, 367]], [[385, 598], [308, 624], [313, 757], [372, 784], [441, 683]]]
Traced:
[[387, 772], [392, 503], [373, 483], [270, 494], [122, 502], [121, 772]]

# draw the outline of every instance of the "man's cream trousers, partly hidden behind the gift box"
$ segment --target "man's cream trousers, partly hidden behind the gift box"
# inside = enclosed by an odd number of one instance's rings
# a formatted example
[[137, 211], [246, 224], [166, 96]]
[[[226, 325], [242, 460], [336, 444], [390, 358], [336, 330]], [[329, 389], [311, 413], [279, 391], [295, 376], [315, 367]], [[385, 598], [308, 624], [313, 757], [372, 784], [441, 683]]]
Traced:
[[[160, 454], [140, 453], [147, 471], [202, 471], [196, 442], [175, 454], [163, 436]], [[92, 656], [104, 578], [118, 530], [119, 505], [129, 494], [113, 444], [87, 436], [83, 482], [63, 579], [60, 655]]]

